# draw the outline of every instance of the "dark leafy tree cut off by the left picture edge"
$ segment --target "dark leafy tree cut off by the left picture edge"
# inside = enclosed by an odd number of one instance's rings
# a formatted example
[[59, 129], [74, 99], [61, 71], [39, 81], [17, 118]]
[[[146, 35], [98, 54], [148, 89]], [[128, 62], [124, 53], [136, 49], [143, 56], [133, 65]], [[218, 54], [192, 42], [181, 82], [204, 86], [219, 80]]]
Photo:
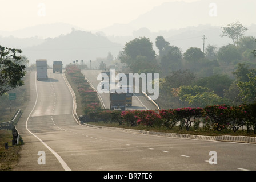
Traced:
[[26, 66], [19, 64], [22, 57], [17, 53], [22, 51], [0, 46], [0, 96], [24, 84], [22, 78], [26, 74]]

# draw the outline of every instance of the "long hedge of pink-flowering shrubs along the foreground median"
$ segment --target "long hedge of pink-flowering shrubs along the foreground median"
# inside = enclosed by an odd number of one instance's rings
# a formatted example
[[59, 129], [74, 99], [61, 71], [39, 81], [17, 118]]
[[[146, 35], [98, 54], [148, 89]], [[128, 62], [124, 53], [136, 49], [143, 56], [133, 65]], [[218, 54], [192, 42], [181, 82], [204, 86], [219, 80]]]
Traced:
[[178, 108], [168, 110], [126, 110], [98, 111], [90, 113], [94, 121], [119, 122], [120, 125], [145, 125], [147, 127], [162, 127], [173, 129], [179, 126], [181, 130], [199, 129], [222, 131], [231, 129], [234, 132], [246, 127], [247, 131], [256, 134], [256, 104], [239, 106], [213, 105], [204, 108]]

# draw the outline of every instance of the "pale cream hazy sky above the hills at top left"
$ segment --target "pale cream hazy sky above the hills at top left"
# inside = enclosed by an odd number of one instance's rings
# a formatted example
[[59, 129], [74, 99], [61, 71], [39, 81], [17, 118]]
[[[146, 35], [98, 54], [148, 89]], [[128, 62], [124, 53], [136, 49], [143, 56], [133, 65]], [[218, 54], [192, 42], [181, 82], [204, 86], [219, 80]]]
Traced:
[[129, 23], [153, 7], [170, 1], [177, 0], [0, 0], [0, 30], [55, 22], [97, 30], [114, 23]]

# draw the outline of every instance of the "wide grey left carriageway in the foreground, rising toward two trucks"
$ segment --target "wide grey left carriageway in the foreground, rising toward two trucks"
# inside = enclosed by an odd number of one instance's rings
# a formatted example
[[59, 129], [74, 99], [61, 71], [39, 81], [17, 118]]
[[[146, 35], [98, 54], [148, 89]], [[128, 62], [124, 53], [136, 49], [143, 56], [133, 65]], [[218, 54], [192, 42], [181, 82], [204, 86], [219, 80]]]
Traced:
[[29, 105], [17, 125], [25, 144], [15, 171], [256, 169], [255, 144], [160, 137], [81, 125], [74, 119], [73, 96], [61, 73], [49, 70], [49, 80], [37, 81], [35, 72], [31, 72], [28, 86]]

